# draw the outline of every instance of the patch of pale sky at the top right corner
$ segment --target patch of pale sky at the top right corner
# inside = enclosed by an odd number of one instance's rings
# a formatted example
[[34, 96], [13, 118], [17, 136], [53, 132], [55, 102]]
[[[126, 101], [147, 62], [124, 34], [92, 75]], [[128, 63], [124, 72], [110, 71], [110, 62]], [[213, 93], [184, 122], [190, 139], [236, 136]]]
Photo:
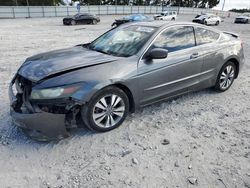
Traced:
[[[224, 0], [220, 0], [219, 5], [216, 7], [216, 9], [222, 8]], [[250, 0], [225, 0], [225, 7], [224, 10], [230, 10], [232, 8], [250, 8]]]

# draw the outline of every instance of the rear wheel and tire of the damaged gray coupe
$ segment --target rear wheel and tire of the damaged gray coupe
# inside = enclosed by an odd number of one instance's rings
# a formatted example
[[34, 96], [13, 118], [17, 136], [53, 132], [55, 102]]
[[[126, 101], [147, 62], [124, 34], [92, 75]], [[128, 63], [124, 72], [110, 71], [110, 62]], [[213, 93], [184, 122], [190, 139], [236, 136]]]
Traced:
[[233, 62], [225, 63], [217, 76], [214, 89], [218, 92], [228, 90], [234, 82], [236, 71], [236, 66]]

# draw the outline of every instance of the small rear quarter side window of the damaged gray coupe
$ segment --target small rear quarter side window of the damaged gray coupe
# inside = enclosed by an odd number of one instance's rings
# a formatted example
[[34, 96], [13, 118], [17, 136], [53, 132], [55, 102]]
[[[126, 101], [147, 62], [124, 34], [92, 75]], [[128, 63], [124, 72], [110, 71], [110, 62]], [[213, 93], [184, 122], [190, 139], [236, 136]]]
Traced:
[[218, 40], [220, 34], [204, 28], [195, 28], [197, 45], [208, 44]]

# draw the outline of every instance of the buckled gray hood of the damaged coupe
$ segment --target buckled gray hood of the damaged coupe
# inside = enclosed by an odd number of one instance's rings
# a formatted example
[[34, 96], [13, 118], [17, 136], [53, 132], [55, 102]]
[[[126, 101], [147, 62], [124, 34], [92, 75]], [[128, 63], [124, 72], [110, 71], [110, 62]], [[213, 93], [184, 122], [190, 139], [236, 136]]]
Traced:
[[18, 74], [37, 82], [55, 74], [110, 63], [119, 58], [76, 46], [32, 56], [26, 59], [18, 70]]

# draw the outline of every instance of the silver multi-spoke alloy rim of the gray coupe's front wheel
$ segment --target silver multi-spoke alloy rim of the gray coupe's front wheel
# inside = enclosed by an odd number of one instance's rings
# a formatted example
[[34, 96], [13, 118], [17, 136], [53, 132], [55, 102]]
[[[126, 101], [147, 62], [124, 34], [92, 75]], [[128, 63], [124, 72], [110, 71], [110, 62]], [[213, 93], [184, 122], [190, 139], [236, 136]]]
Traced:
[[93, 108], [92, 117], [101, 128], [116, 126], [125, 114], [125, 103], [115, 94], [102, 97]]

